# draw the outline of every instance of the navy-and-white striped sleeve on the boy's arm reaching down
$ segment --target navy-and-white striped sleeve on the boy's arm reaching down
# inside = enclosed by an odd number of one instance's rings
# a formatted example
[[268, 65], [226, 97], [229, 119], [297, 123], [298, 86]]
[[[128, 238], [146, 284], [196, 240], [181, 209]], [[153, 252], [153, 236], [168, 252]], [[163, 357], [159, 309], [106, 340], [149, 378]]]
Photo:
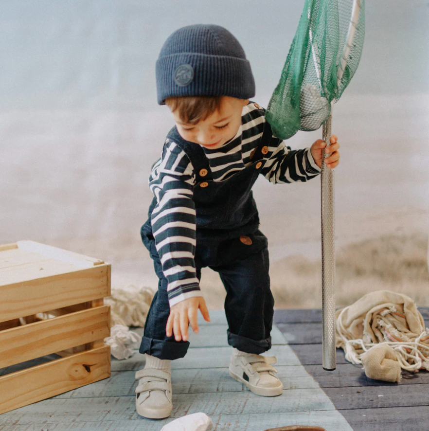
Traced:
[[151, 216], [155, 246], [167, 279], [170, 307], [202, 296], [195, 269], [196, 219], [193, 166], [184, 151], [167, 140], [154, 165], [149, 187], [157, 199]]

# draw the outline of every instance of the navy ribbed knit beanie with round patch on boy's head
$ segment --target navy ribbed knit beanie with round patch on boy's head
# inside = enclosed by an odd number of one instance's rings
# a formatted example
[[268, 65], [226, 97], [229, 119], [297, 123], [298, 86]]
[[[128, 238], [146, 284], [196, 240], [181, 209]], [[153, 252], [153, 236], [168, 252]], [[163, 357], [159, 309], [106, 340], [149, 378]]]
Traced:
[[165, 41], [156, 62], [158, 104], [175, 96], [250, 99], [255, 81], [238, 40], [213, 24], [188, 25]]

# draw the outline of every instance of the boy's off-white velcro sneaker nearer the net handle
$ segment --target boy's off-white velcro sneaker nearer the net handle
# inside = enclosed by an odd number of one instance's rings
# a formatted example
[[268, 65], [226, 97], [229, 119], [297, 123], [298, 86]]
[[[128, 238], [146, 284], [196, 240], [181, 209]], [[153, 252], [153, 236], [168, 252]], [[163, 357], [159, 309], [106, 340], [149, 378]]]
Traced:
[[274, 356], [254, 354], [232, 355], [230, 376], [246, 385], [256, 395], [276, 396], [283, 393], [283, 384], [274, 374], [277, 370]]

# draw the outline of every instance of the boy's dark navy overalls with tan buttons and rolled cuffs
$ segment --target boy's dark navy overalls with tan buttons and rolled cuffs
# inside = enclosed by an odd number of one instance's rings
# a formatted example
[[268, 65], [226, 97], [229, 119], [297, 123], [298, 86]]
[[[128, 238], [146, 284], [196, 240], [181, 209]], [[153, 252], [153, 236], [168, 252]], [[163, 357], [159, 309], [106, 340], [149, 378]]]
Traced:
[[[268, 152], [271, 136], [271, 127], [265, 123], [259, 145], [250, 155], [251, 164], [227, 180], [215, 182], [200, 145], [183, 140], [176, 127], [167, 135], [186, 153], [196, 173], [193, 200], [197, 224], [197, 278], [200, 280], [201, 268], [205, 267], [219, 273], [227, 291], [228, 343], [238, 350], [255, 354], [271, 347], [274, 299], [269, 289], [268, 241], [258, 230], [259, 215], [251, 188], [265, 164], [263, 155]], [[141, 236], [160, 281], [147, 315], [139, 351], [160, 359], [178, 359], [185, 356], [189, 342], [176, 341], [174, 334], [167, 337], [165, 333], [170, 314], [167, 280], [150, 221], [156, 204], [154, 198]]]

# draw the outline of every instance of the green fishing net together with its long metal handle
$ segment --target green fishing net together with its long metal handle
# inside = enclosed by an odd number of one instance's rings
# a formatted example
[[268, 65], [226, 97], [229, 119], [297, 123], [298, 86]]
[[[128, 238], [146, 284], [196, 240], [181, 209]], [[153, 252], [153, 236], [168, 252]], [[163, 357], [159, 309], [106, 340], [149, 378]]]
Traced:
[[[322, 129], [329, 148], [332, 108], [356, 72], [365, 35], [364, 0], [305, 0], [266, 118], [275, 136]], [[329, 151], [328, 151], [329, 152]], [[336, 369], [334, 172], [321, 162], [322, 366]]]

